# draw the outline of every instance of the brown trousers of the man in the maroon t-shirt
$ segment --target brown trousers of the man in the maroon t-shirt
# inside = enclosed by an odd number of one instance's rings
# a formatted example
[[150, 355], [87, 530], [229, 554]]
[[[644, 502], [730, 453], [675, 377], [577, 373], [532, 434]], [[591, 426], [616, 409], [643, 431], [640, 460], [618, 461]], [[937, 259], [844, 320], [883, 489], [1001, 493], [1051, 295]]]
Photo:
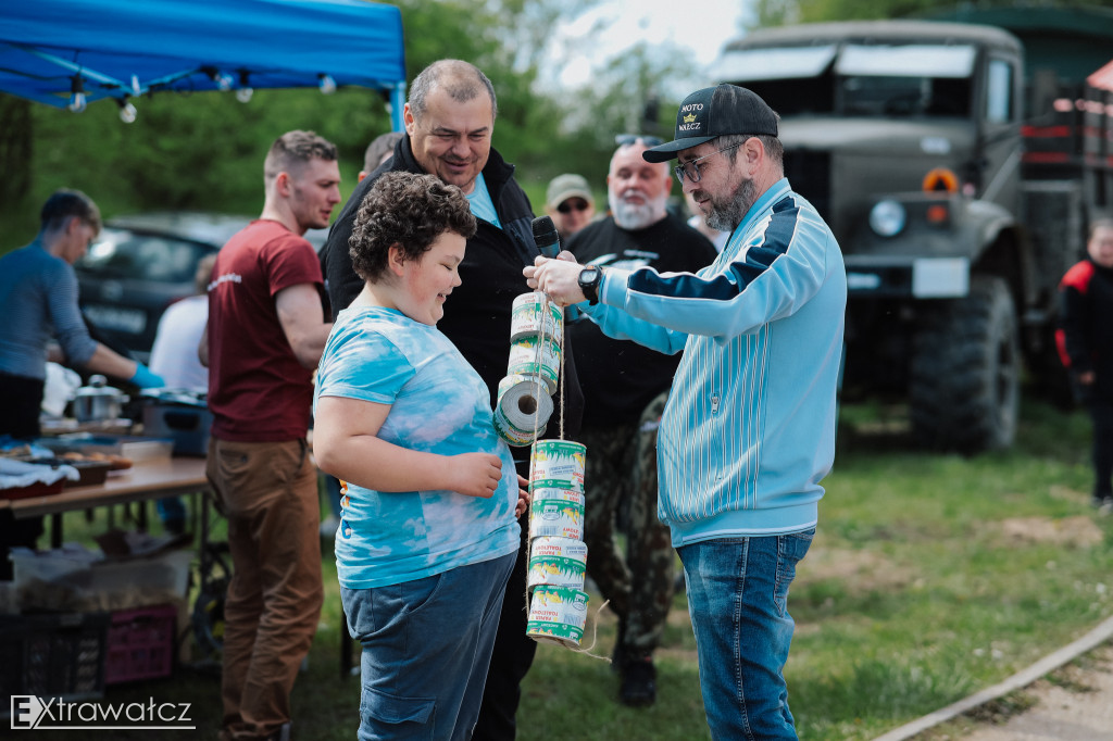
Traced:
[[206, 471], [228, 520], [221, 739], [265, 739], [290, 720], [289, 693], [317, 630], [321, 511], [305, 441], [209, 442]]

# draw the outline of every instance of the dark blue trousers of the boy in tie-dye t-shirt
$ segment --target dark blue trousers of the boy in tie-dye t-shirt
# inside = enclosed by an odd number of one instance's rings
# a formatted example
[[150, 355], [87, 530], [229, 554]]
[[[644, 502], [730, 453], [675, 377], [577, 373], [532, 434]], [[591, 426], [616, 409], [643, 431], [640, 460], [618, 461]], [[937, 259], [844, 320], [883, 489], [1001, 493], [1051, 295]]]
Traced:
[[516, 555], [402, 584], [341, 587], [348, 631], [363, 644], [359, 741], [472, 738]]

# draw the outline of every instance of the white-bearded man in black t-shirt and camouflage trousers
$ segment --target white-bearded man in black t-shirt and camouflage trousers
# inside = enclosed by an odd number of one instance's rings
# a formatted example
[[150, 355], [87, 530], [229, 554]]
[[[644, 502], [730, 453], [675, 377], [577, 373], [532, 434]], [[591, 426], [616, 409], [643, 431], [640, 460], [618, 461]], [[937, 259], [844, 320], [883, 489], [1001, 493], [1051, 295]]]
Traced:
[[[660, 139], [621, 135], [607, 176], [611, 216], [589, 224], [568, 244], [582, 265], [695, 273], [716, 257], [712, 244], [666, 210], [672, 176], [642, 158]], [[584, 541], [588, 573], [619, 616], [613, 668], [619, 700], [657, 699], [652, 654], [672, 601], [674, 554], [657, 518], [657, 427], [679, 355], [612, 339], [592, 322], [570, 328], [584, 394], [588, 446]], [[583, 364], [582, 366], [580, 364]], [[627, 549], [614, 541], [615, 513], [627, 511]]]

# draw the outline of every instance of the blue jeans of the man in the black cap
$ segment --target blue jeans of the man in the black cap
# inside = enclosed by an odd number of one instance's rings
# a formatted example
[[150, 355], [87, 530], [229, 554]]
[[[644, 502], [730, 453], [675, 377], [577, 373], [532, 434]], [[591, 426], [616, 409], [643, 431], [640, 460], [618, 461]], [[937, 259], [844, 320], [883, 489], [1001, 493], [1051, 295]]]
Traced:
[[788, 586], [815, 532], [677, 549], [712, 739], [797, 738], [784, 675], [795, 625]]

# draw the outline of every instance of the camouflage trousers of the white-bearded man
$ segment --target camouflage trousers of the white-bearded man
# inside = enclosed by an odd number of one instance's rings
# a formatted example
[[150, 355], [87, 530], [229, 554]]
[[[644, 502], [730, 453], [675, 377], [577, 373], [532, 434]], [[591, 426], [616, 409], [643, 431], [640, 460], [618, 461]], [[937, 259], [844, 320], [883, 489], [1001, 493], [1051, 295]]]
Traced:
[[[657, 428], [668, 393], [637, 423], [581, 431], [584, 468], [584, 542], [588, 575], [610, 600], [623, 626], [627, 658], [657, 649], [672, 603], [676, 552], [657, 518]], [[615, 514], [628, 512], [626, 554], [615, 540]]]

